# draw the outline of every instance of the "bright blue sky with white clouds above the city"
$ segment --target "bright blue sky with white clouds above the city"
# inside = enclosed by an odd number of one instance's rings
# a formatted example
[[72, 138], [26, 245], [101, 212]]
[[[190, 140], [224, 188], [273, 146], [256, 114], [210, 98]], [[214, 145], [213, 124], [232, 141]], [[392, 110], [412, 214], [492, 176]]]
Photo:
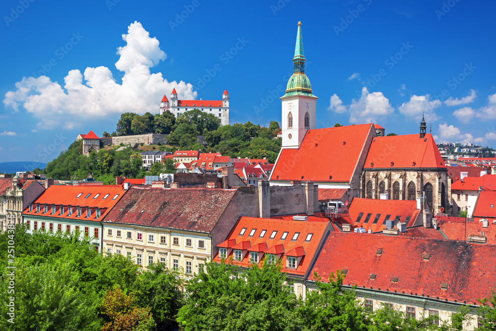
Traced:
[[[495, 1], [1, 1], [0, 162], [55, 158], [164, 94], [281, 120], [298, 21], [317, 127], [496, 147]], [[226, 53], [227, 52], [227, 53]], [[24, 78], [23, 78], [24, 77]], [[123, 81], [124, 79], [124, 81]], [[275, 96], [275, 98], [274, 98]]]

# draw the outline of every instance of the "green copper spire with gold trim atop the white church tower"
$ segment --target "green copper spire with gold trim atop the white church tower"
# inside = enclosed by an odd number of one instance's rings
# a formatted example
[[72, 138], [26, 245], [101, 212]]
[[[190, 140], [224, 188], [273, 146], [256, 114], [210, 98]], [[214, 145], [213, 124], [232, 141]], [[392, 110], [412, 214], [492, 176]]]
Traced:
[[[310, 80], [305, 74], [305, 56], [303, 55], [303, 35], [302, 22], [298, 22], [298, 33], [296, 35], [295, 57], [293, 58], [293, 75], [289, 78], [286, 86], [286, 94], [282, 96], [307, 95], [312, 94]], [[316, 98], [316, 97], [315, 97]]]

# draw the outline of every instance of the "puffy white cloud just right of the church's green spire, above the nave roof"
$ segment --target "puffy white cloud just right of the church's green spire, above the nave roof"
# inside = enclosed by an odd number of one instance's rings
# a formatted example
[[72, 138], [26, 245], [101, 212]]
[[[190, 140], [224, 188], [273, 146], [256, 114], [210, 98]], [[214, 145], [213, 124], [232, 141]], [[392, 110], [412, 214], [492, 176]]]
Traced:
[[369, 93], [367, 87], [362, 88], [359, 100], [353, 99], [349, 107], [351, 123], [377, 122], [394, 112], [389, 99], [382, 92]]

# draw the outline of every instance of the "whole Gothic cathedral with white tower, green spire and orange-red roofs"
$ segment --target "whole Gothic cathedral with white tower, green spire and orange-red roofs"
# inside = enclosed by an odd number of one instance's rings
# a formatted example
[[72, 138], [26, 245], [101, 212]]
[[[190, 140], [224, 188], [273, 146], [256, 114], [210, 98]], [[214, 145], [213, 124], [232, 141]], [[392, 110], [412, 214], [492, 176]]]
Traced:
[[317, 97], [305, 61], [298, 22], [293, 75], [280, 98], [282, 148], [270, 185], [313, 182], [319, 196], [350, 202], [423, 197], [434, 213], [450, 213], [447, 169], [424, 118], [418, 134], [384, 136], [384, 129], [373, 124], [316, 129]]

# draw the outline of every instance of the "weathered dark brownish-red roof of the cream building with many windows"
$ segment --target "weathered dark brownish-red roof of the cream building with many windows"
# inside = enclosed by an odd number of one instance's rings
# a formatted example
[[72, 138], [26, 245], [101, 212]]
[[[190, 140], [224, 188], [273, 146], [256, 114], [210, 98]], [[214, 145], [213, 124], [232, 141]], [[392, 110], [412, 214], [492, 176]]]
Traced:
[[131, 187], [104, 221], [210, 232], [236, 190]]

